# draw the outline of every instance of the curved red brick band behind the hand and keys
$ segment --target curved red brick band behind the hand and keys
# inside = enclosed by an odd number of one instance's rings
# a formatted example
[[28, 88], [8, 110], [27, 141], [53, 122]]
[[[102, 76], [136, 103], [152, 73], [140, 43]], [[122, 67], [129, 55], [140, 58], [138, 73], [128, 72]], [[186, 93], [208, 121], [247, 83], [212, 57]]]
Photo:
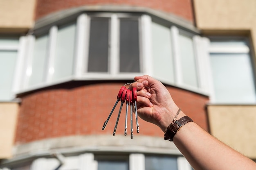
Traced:
[[[112, 135], [120, 102], [108, 125], [102, 131], [112, 107], [117, 100], [117, 93], [123, 83], [95, 83], [74, 88], [47, 89], [22, 97], [16, 130], [16, 144], [35, 140], [68, 135]], [[167, 87], [176, 104], [202, 128], [208, 130], [205, 105], [208, 97], [188, 92], [176, 87]], [[117, 133], [124, 135], [124, 105]], [[134, 117], [133, 117], [134, 118]], [[130, 116], [128, 117], [130, 120]], [[155, 125], [139, 118], [139, 134], [163, 137], [164, 133]], [[130, 123], [128, 121], [128, 135]]]

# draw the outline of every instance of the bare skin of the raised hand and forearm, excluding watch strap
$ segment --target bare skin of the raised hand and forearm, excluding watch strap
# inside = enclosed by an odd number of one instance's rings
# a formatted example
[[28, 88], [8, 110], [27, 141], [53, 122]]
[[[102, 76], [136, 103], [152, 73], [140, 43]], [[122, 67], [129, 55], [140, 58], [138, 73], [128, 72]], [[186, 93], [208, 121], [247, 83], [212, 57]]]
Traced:
[[[173, 122], [179, 107], [164, 85], [144, 75], [136, 76], [137, 112], [145, 121], [159, 126], [162, 131]], [[177, 120], [186, 116], [180, 112]], [[204, 131], [194, 122], [182, 126], [173, 142], [195, 170], [256, 170], [256, 163]]]

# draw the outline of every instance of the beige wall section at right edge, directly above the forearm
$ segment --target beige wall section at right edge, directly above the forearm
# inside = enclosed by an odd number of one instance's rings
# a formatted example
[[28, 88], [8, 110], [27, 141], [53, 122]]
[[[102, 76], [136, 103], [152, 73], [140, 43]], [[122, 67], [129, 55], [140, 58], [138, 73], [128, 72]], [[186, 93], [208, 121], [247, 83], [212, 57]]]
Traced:
[[211, 134], [256, 159], [256, 106], [210, 105], [207, 110]]

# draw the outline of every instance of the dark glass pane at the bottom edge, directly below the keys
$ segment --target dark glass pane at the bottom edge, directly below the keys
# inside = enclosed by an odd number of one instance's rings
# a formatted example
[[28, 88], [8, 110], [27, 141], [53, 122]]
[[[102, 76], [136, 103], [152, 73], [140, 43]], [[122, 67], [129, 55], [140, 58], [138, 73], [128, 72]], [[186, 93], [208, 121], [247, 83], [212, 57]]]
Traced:
[[98, 161], [98, 170], [128, 170], [128, 161]]

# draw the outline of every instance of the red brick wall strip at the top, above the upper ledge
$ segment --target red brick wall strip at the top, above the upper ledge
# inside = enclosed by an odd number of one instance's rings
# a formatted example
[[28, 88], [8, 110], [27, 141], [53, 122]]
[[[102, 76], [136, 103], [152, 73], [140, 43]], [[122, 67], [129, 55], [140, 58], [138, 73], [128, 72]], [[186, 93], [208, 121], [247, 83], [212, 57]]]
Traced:
[[37, 0], [36, 20], [50, 13], [85, 5], [126, 5], [148, 7], [193, 21], [191, 0]]

